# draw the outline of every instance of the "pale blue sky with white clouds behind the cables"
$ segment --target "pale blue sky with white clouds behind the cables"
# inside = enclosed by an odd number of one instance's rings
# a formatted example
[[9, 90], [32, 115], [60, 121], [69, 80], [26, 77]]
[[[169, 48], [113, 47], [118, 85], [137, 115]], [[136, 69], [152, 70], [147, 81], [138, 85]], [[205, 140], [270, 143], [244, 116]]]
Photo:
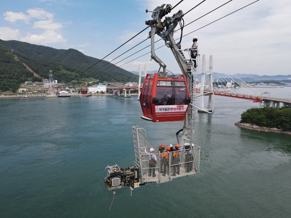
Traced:
[[[180, 2], [168, 14], [172, 16], [178, 10], [186, 14], [202, 1], [2, 0], [0, 39], [57, 49], [74, 48], [87, 56], [116, 63], [128, 71], [139, 71], [140, 66], [142, 70], [158, 70], [159, 64], [151, 60], [148, 47], [150, 28], [143, 31], [147, 27], [145, 21], [152, 15], [146, 13], [146, 9], [153, 11], [163, 3], [174, 7]], [[290, 75], [291, 1], [259, 0], [226, 16], [254, 1], [205, 0], [183, 17], [185, 27], [181, 48], [191, 47], [193, 37], [197, 37], [200, 57], [205, 55], [208, 60], [213, 55], [215, 72]], [[226, 17], [211, 23], [223, 16]], [[178, 30], [174, 38], [179, 37]], [[155, 41], [159, 39], [156, 35]], [[163, 40], [155, 43], [155, 48], [158, 47], [161, 48], [156, 50], [156, 55], [167, 65], [166, 69], [179, 73], [170, 48], [164, 46]]]

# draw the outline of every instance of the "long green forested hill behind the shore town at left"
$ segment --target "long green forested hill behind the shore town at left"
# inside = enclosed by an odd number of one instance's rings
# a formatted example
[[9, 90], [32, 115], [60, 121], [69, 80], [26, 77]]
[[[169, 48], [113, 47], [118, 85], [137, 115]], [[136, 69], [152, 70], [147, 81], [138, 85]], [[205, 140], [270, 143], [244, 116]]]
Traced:
[[[49, 70], [52, 70], [55, 79], [64, 83], [78, 83], [89, 78], [99, 79], [100, 82], [128, 82], [136, 77], [109, 62], [99, 61], [71, 48], [55, 49], [15, 40], [0, 40], [0, 91], [15, 90], [25, 81], [49, 78]], [[82, 73], [95, 63], [94, 67]]]

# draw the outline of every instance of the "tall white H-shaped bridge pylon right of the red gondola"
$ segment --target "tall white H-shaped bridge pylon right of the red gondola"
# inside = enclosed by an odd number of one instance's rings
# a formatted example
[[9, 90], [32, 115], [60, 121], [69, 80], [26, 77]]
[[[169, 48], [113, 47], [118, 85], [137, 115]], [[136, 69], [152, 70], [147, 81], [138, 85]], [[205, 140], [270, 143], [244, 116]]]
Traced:
[[[209, 69], [206, 70], [206, 59], [205, 55], [202, 56], [202, 73], [201, 73], [201, 83], [200, 83], [200, 94], [204, 92], [212, 92], [213, 91], [213, 55], [209, 57]], [[205, 77], [209, 77], [209, 85], [205, 84]], [[204, 98], [208, 97], [208, 104], [205, 106]], [[213, 113], [213, 97], [212, 93], [201, 95], [201, 109], [198, 109], [199, 112], [212, 112]]]

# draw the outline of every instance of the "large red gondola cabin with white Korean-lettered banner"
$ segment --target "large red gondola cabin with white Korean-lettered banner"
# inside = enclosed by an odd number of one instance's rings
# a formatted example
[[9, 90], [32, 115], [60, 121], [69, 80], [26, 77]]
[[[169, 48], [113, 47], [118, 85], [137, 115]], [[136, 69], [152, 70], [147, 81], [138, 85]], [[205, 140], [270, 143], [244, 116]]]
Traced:
[[144, 116], [152, 122], [183, 121], [191, 102], [184, 75], [147, 74], [140, 95]]

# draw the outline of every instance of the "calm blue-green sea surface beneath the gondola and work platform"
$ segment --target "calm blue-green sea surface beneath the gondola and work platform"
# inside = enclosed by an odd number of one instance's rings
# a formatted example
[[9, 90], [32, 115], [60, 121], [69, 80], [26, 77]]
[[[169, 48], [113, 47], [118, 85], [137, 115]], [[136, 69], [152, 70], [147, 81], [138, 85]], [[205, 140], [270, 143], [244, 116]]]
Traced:
[[[260, 88], [291, 98], [291, 87]], [[1, 218], [290, 218], [291, 136], [241, 129], [247, 100], [215, 96], [197, 113], [200, 173], [113, 193], [107, 165], [132, 166], [132, 126], [175, 143], [182, 122], [142, 120], [137, 96], [0, 99]]]

